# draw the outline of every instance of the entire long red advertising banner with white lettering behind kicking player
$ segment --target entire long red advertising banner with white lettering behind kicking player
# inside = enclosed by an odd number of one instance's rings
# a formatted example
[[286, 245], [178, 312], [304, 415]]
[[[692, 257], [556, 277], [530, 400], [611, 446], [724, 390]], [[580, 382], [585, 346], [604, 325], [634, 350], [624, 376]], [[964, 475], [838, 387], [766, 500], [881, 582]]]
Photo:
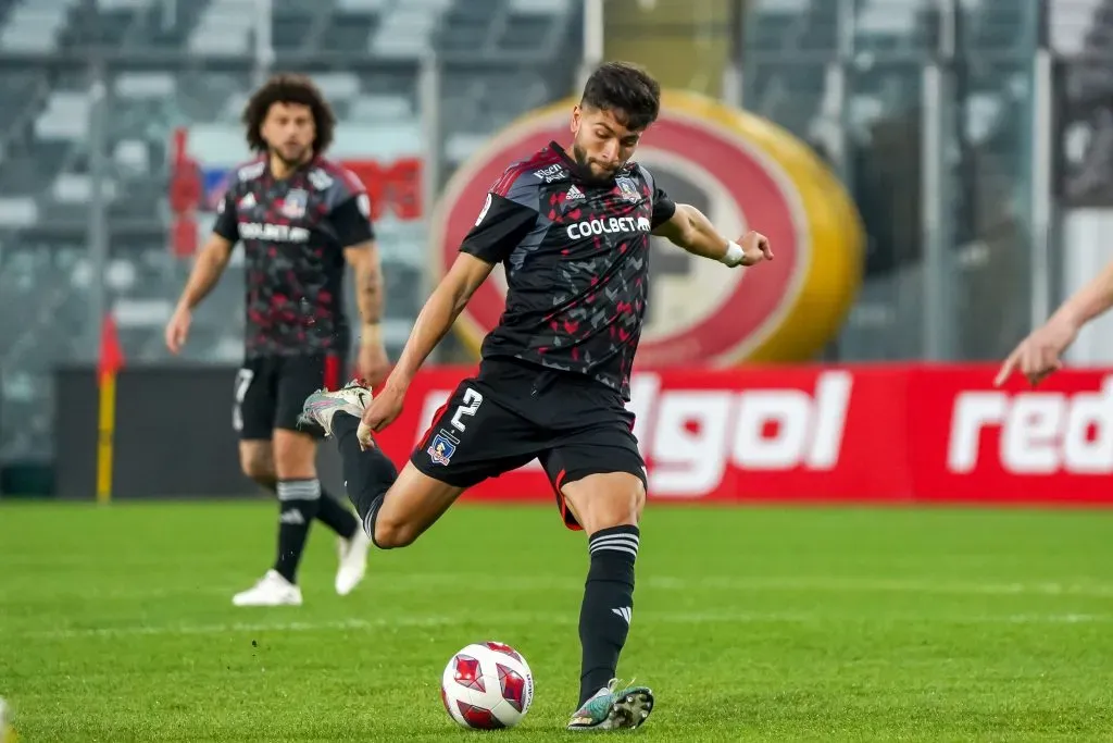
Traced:
[[[472, 369], [422, 373], [380, 437], [404, 461]], [[634, 375], [650, 498], [1113, 505], [1113, 371], [1038, 390], [995, 366], [789, 366]], [[548, 500], [536, 463], [465, 496]]]

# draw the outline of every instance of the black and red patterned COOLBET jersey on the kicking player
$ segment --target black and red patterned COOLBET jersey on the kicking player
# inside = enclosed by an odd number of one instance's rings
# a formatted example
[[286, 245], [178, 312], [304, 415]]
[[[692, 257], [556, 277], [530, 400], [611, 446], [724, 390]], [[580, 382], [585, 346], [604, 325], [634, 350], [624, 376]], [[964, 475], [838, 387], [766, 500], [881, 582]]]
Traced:
[[582, 373], [629, 398], [650, 232], [674, 212], [636, 163], [601, 182], [551, 143], [506, 168], [461, 246], [505, 267], [506, 307], [483, 358]]

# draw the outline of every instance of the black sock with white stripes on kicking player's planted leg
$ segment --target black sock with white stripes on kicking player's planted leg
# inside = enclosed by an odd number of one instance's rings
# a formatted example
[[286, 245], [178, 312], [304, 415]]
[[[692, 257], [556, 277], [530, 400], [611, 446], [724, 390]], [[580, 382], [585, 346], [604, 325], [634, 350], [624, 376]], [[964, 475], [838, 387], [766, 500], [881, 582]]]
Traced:
[[580, 705], [614, 678], [633, 612], [636, 526], [600, 529], [588, 539], [591, 567], [580, 608]]

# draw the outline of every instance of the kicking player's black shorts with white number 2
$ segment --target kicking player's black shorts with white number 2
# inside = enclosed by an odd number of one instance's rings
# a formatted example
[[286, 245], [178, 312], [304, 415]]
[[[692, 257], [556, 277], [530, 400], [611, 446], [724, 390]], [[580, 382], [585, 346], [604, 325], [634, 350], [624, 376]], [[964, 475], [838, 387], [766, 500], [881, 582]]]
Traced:
[[541, 461], [569, 528], [579, 529], [561, 487], [589, 475], [629, 472], [647, 483], [621, 395], [580, 374], [484, 361], [433, 417], [410, 457], [420, 471], [459, 488]]

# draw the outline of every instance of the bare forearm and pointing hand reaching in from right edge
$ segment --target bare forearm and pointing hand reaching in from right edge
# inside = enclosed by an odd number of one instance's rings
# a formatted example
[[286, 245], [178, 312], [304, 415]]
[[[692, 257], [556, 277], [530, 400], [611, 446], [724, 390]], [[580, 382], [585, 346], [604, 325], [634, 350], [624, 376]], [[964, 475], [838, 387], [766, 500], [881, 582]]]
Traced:
[[1064, 302], [1046, 323], [1032, 331], [1005, 359], [994, 384], [1001, 387], [1014, 372], [1024, 374], [1033, 385], [1063, 368], [1060, 356], [1071, 346], [1078, 331], [1094, 317], [1113, 307], [1113, 262]]

